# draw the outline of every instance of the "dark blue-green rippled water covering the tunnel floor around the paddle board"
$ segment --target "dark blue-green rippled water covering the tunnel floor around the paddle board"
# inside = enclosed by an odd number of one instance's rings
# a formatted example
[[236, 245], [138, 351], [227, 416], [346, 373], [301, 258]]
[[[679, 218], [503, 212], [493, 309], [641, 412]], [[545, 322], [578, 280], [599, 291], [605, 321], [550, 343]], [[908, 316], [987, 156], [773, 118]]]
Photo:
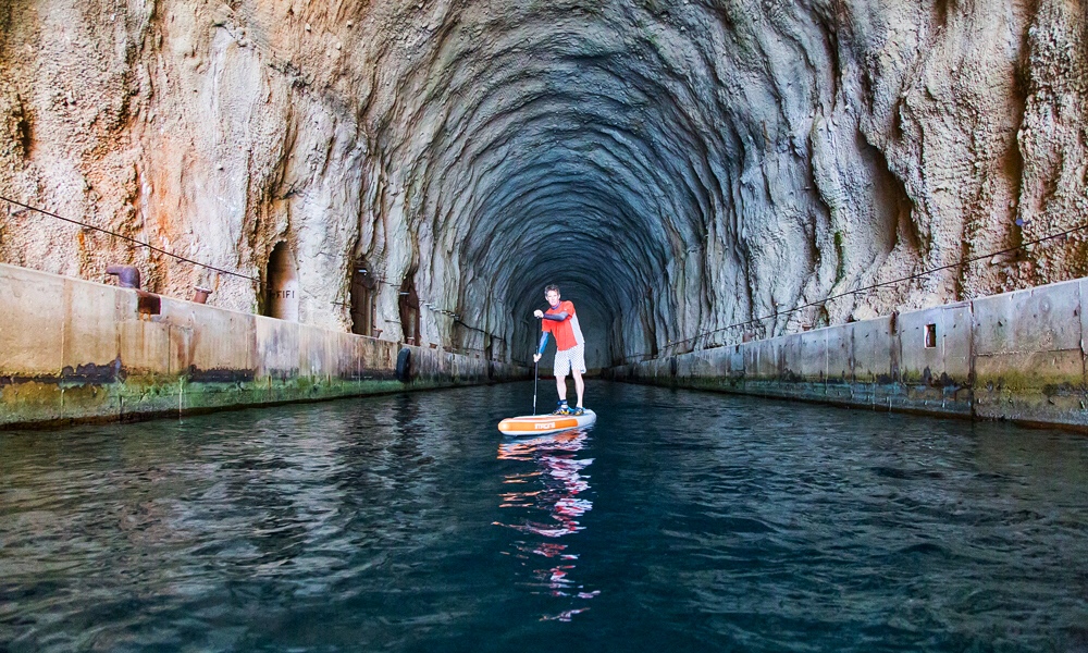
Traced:
[[1088, 650], [1083, 435], [531, 398], [0, 433], [0, 651]]

